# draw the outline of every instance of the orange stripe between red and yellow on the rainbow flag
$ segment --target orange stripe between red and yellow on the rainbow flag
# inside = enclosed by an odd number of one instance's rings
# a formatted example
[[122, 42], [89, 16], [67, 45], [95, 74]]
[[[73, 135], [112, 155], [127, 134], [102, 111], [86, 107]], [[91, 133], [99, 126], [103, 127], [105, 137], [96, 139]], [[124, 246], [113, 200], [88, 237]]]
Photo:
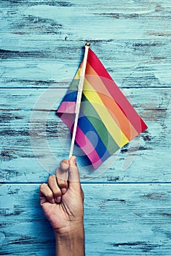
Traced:
[[108, 92], [106, 86], [104, 85], [102, 80], [100, 80], [100, 77], [97, 75], [95, 70], [92, 69], [92, 67], [88, 63], [86, 69], [86, 79], [98, 93], [108, 112], [111, 114], [112, 118], [114, 118], [116, 124], [122, 130], [127, 139], [132, 140], [132, 138], [135, 138], [138, 135], [138, 132], [135, 130], [130, 121], [119, 108], [119, 105], [117, 105], [117, 103], [111, 97], [111, 94]]

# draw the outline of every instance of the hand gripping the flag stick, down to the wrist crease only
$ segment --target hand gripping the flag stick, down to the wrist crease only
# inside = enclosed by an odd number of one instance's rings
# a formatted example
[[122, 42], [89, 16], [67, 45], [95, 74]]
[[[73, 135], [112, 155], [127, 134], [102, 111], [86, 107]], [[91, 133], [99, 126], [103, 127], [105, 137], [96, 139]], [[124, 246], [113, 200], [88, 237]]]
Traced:
[[40, 200], [44, 214], [56, 233], [70, 231], [72, 225], [83, 222], [84, 195], [76, 157], [71, 157], [69, 162], [60, 162], [56, 176], [49, 176], [48, 185], [41, 184]]

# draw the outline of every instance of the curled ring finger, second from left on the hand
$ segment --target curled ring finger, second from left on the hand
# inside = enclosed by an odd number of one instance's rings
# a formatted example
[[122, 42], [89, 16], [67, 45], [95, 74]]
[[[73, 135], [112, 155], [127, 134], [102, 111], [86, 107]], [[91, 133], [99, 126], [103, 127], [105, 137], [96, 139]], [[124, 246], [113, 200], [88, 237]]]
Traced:
[[52, 190], [53, 197], [56, 203], [60, 203], [62, 192], [57, 185], [57, 179], [55, 175], [49, 176], [48, 185], [49, 185], [49, 188]]

